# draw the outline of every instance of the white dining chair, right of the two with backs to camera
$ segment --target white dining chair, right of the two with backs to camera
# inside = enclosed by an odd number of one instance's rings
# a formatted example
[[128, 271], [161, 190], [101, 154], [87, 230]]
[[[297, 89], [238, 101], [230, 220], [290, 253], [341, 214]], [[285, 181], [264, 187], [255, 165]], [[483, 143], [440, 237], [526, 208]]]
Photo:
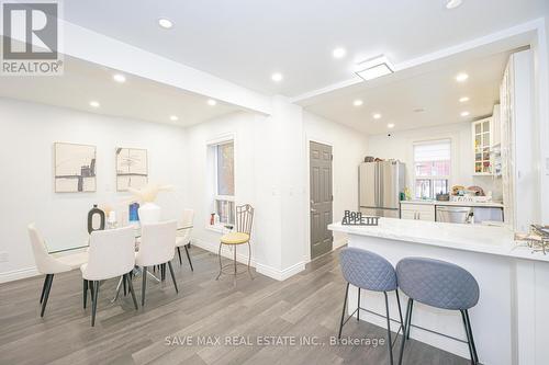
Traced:
[[139, 251], [135, 255], [135, 264], [143, 269], [142, 306], [145, 306], [147, 267], [149, 266], [160, 265], [165, 267], [168, 264], [176, 293], [179, 293], [173, 267], [171, 266], [171, 260], [176, 255], [176, 220], [142, 226]]

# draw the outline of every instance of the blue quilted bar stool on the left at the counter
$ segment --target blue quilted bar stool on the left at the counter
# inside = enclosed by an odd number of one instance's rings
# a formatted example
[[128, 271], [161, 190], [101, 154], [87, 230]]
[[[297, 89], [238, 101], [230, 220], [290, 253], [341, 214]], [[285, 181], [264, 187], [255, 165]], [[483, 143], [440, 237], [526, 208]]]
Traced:
[[[341, 321], [339, 322], [339, 333], [338, 338], [341, 338], [341, 330], [345, 323], [357, 313], [357, 320], [360, 320], [360, 310], [368, 311], [370, 313], [386, 318], [386, 333], [389, 338], [389, 360], [393, 364], [393, 345], [396, 342], [391, 341], [391, 318], [389, 316], [389, 298], [386, 293], [393, 292], [396, 294], [396, 303], [399, 305], [399, 316], [400, 316], [400, 327], [401, 331], [402, 323], [402, 311], [401, 311], [401, 300], [399, 298], [399, 292], [396, 290], [396, 273], [393, 265], [384, 258], [377, 253], [355, 249], [345, 248], [339, 254], [341, 272], [347, 281], [347, 288], [345, 289], [345, 300], [344, 308], [341, 312]], [[349, 285], [352, 284], [358, 288], [358, 306], [357, 309], [345, 319], [345, 310], [347, 308], [347, 296], [349, 294]], [[385, 316], [381, 316], [371, 310], [360, 307], [360, 289], [372, 290], [372, 292], [383, 292], [385, 296]], [[399, 335], [396, 332], [396, 337]], [[404, 332], [404, 331], [403, 331]]]

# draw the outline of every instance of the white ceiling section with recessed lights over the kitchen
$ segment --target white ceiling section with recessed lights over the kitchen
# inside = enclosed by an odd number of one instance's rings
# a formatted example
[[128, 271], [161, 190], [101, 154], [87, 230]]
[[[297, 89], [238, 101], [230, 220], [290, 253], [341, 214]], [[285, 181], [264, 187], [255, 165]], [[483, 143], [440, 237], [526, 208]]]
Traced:
[[[307, 111], [366, 134], [381, 134], [440, 124], [473, 121], [492, 114], [500, 100], [500, 83], [511, 52], [468, 60], [438, 61], [428, 71], [407, 70], [300, 102]], [[459, 83], [456, 76], [467, 72]], [[460, 103], [461, 96], [469, 96]], [[354, 101], [363, 101], [354, 106]], [[423, 112], [415, 110], [422, 109]], [[462, 117], [461, 112], [470, 113]], [[382, 117], [374, 119], [372, 115]], [[394, 128], [388, 128], [393, 123]]]

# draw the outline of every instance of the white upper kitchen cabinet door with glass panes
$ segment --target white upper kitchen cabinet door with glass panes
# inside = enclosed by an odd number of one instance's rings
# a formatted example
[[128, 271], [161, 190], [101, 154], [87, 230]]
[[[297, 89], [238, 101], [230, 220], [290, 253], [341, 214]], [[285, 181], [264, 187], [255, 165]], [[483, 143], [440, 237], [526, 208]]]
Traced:
[[492, 158], [491, 149], [493, 146], [492, 118], [485, 118], [472, 123], [473, 153], [474, 153], [474, 174], [491, 175]]

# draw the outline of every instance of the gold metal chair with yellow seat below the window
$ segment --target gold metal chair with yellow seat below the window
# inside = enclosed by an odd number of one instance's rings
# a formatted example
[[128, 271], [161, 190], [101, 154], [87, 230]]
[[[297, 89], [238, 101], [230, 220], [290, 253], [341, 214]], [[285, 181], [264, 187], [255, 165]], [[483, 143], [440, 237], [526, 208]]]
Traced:
[[[254, 276], [250, 271], [250, 260], [251, 260], [251, 244], [249, 242], [251, 237], [251, 224], [254, 221], [254, 208], [249, 204], [240, 205], [236, 207], [236, 226], [233, 228], [232, 232], [223, 235], [220, 240], [220, 250], [217, 255], [220, 258], [220, 273], [215, 280], [219, 280], [222, 274], [232, 274], [234, 285], [236, 286], [236, 276], [243, 274], [245, 271], [238, 272], [236, 262], [236, 247], [240, 244], [248, 243], [248, 265], [247, 272], [251, 280]], [[221, 261], [221, 249], [223, 244], [233, 248], [233, 263], [223, 265]], [[228, 272], [231, 270], [231, 272]]]

